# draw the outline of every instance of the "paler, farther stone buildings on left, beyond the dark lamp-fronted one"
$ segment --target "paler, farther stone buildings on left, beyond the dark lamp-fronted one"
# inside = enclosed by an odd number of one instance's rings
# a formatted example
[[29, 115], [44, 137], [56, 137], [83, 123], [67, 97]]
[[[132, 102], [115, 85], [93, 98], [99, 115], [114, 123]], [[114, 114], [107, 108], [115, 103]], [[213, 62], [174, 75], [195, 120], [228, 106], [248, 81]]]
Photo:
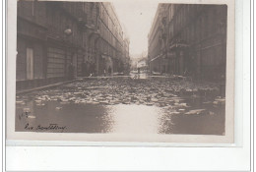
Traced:
[[90, 19], [85, 25], [88, 29], [85, 32], [85, 61], [96, 64], [96, 75], [109, 70], [111, 73], [123, 72], [124, 57], [129, 58], [129, 42], [124, 37], [113, 5], [109, 2], [86, 2], [84, 7]]

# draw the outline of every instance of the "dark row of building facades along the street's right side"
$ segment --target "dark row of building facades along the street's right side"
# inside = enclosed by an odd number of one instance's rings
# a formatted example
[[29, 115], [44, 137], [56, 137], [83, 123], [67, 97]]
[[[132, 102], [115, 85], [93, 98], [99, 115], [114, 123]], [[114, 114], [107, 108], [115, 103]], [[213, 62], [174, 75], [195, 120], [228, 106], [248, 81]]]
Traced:
[[226, 16], [225, 5], [160, 4], [149, 33], [150, 69], [224, 80]]

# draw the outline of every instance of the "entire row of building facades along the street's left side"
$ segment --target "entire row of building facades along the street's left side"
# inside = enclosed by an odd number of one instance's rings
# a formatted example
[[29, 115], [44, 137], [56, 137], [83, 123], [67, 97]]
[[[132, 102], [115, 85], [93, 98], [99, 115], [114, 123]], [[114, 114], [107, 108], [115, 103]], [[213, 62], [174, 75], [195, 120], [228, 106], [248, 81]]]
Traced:
[[111, 3], [18, 1], [17, 89], [117, 72], [124, 44]]

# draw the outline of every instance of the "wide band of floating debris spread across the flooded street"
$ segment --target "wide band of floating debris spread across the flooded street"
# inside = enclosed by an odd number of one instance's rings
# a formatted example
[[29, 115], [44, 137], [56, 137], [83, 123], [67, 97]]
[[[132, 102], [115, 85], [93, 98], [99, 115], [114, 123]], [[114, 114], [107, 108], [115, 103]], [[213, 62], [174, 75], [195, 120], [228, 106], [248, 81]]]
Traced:
[[[195, 98], [201, 101], [200, 97], [204, 97], [203, 105], [216, 107], [224, 105], [225, 99], [217, 96], [218, 86], [174, 79], [180, 79], [180, 77], [156, 80], [155, 78], [150, 80], [129, 78], [81, 80], [49, 90], [32, 92], [30, 95], [22, 95], [16, 103], [25, 104], [25, 99], [32, 98], [36, 106], [43, 106], [46, 101], [59, 101], [60, 104], [142, 104], [177, 110], [172, 114], [184, 114], [190, 105], [193, 106], [192, 103], [196, 103]], [[193, 102], [187, 101], [188, 99], [193, 99]], [[192, 114], [192, 112], [187, 112], [187, 114]]]

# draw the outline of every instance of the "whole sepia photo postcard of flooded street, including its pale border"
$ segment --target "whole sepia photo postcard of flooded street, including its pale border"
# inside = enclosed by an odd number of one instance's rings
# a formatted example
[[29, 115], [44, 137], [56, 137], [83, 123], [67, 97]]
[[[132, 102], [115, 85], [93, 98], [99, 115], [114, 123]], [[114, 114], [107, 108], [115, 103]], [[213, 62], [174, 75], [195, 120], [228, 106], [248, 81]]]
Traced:
[[9, 2], [7, 139], [233, 143], [234, 2]]

